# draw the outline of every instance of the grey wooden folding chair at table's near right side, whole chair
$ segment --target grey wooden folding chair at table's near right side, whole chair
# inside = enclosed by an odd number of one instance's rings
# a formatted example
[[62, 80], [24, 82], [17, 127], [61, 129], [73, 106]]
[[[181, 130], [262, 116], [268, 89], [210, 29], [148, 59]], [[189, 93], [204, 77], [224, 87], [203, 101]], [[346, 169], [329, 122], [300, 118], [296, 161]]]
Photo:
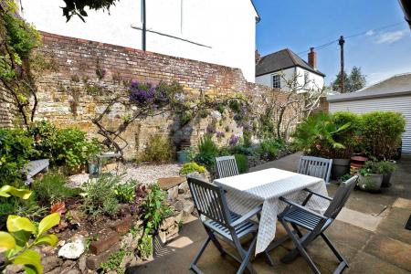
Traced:
[[[320, 195], [305, 189], [309, 193], [308, 198], [304, 201], [302, 205], [296, 204], [287, 200], [284, 197], [279, 199], [289, 204], [289, 206], [284, 210], [283, 213], [279, 215], [279, 221], [282, 226], [287, 231], [287, 234], [292, 239], [297, 248], [291, 250], [284, 258], [281, 259], [282, 262], [287, 263], [292, 259], [296, 258], [299, 254], [305, 258], [314, 273], [321, 273], [317, 266], [314, 264], [309, 254], [307, 253], [306, 247], [317, 237], [321, 236], [325, 241], [327, 246], [332, 249], [334, 255], [340, 261], [338, 267], [334, 270], [334, 273], [341, 273], [343, 269], [348, 268], [348, 263], [342, 254], [332, 245], [332, 241], [324, 234], [325, 229], [330, 227], [334, 219], [338, 216], [342, 207], [345, 205], [348, 197], [353, 191], [353, 188], [357, 182], [358, 175], [353, 176], [347, 181], [340, 184], [337, 192], [333, 198], [325, 195]], [[308, 200], [312, 195], [317, 195], [323, 199], [331, 201], [324, 215], [312, 211], [311, 209], [305, 207]], [[291, 225], [291, 227], [289, 226]], [[302, 234], [299, 227], [305, 228], [308, 232]], [[292, 229], [291, 229], [292, 228]]]

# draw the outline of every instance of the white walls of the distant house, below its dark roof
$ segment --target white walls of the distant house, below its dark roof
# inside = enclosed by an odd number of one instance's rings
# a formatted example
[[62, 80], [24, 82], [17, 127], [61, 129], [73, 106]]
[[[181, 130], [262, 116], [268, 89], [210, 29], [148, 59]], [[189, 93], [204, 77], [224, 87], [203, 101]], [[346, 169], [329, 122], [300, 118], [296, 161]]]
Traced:
[[[307, 71], [309, 73], [309, 81], [304, 86], [304, 72]], [[304, 86], [302, 90], [318, 90], [322, 89], [324, 86], [324, 78], [321, 75], [311, 72], [310, 70], [300, 68], [300, 67], [293, 67], [293, 68], [286, 68], [281, 71], [276, 71], [273, 73], [268, 73], [264, 75], [260, 75], [256, 77], [256, 83], [267, 86], [272, 88], [272, 77], [275, 74], [282, 75], [281, 77], [281, 89], [288, 90], [286, 80], [292, 80], [295, 76], [297, 76], [297, 82], [299, 86]]]

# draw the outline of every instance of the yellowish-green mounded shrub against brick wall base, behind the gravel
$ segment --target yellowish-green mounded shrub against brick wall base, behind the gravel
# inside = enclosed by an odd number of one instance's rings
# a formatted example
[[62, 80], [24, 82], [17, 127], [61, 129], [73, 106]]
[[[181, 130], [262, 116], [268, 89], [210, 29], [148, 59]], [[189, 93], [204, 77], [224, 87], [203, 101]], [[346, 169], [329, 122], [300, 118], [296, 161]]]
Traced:
[[169, 139], [153, 135], [140, 156], [142, 162], [170, 163], [174, 160], [174, 148]]

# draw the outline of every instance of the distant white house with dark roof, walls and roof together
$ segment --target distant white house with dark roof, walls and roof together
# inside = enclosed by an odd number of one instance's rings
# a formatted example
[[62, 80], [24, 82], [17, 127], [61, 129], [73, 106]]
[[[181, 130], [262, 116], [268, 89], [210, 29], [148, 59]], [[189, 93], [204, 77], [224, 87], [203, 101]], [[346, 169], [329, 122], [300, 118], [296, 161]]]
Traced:
[[316, 68], [316, 57], [311, 62], [305, 62], [288, 48], [280, 50], [259, 60], [256, 83], [284, 91], [289, 90], [290, 82], [302, 91], [321, 90], [325, 75]]

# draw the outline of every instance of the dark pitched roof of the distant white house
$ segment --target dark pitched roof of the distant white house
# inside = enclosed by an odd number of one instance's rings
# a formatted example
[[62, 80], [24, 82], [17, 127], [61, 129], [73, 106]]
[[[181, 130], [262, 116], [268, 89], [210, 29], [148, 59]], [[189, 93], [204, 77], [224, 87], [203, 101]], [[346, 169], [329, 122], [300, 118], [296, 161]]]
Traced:
[[306, 61], [292, 52], [289, 48], [281, 49], [261, 58], [256, 65], [256, 76], [293, 67], [305, 68], [313, 73], [325, 77], [325, 74], [315, 68], [312, 68]]

